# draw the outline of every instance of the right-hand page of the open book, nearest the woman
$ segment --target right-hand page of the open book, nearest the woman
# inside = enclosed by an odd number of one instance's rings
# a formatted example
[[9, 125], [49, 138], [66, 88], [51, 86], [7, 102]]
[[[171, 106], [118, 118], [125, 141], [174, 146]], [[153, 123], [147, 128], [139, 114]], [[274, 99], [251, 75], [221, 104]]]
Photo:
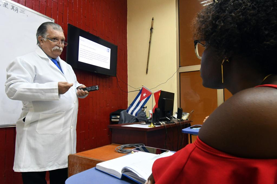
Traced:
[[[128, 175], [128, 171], [132, 171], [134, 174], [136, 174], [139, 178], [143, 179], [145, 182], [150, 174], [152, 173], [152, 166], [156, 159], [167, 157], [173, 155], [173, 152], [166, 152], [160, 155], [156, 155], [152, 159], [144, 159], [140, 162], [136, 163], [130, 163], [130, 165], [124, 167], [121, 171], [121, 173]], [[127, 173], [125, 173], [127, 171]]]

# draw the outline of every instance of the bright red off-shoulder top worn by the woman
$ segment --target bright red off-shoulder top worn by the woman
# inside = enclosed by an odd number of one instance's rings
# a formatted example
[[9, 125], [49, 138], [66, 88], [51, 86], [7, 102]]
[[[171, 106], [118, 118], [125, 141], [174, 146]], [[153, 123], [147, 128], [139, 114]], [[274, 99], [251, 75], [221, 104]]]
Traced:
[[[261, 86], [277, 88], [277, 85]], [[156, 184], [273, 184], [277, 183], [277, 159], [235, 157], [197, 137], [174, 155], [157, 159], [152, 173]]]

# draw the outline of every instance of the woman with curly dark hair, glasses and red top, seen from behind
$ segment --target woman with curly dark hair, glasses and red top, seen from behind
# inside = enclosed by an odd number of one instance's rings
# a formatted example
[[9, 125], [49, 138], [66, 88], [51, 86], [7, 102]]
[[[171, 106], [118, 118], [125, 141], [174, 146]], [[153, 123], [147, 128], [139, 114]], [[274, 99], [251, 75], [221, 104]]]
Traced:
[[146, 183], [277, 183], [277, 0], [214, 0], [194, 27], [203, 86], [233, 96]]

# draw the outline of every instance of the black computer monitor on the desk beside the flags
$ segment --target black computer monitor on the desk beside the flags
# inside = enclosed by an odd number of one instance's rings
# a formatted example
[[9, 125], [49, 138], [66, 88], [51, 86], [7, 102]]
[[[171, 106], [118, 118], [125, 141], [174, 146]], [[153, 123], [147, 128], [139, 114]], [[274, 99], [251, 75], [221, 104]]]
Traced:
[[[173, 107], [174, 107], [174, 93], [161, 91], [158, 108], [159, 112], [153, 114], [153, 118], [159, 121], [167, 121], [166, 114], [170, 113], [173, 116]], [[153, 119], [154, 120], [154, 119]]]

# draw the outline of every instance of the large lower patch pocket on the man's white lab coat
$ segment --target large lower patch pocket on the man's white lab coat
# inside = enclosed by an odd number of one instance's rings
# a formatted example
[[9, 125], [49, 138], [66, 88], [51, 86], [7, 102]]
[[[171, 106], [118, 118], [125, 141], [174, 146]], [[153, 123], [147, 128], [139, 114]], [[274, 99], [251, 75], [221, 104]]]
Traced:
[[62, 132], [65, 112], [39, 114], [36, 131], [38, 134], [58, 134]]

